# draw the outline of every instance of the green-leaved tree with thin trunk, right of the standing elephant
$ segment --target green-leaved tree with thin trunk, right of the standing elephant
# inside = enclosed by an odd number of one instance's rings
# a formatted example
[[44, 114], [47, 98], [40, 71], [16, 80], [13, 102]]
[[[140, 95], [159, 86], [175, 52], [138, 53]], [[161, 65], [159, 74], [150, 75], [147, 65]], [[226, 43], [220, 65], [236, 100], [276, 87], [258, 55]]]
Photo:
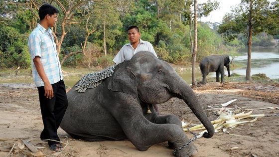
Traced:
[[227, 41], [234, 40], [239, 33], [247, 34], [248, 60], [246, 68], [246, 81], [251, 82], [251, 53], [252, 35], [265, 31], [265, 23], [269, 12], [268, 0], [242, 0], [242, 2], [232, 9], [232, 13], [227, 13], [223, 18], [223, 24], [219, 26], [218, 32]]

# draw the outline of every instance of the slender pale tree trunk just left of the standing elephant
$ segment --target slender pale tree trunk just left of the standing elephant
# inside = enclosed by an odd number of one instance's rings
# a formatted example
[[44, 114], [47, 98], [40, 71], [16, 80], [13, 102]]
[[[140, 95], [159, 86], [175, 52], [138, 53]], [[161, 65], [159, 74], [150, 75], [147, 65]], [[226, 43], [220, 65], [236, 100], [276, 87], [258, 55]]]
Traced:
[[198, 29], [197, 29], [197, 0], [194, 0], [194, 49], [192, 53], [192, 86], [195, 88], [196, 83], [196, 74], [195, 74], [195, 68], [196, 68], [196, 54], [197, 54], [197, 36], [198, 36]]

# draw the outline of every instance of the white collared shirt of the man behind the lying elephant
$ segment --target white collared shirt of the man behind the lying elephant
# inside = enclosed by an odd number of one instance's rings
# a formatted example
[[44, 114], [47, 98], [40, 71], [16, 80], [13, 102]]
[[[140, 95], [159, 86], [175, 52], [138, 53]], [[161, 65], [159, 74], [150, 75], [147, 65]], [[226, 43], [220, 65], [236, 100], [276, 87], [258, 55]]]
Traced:
[[[141, 39], [139, 39], [139, 45], [137, 46], [136, 49], [133, 48], [131, 42], [128, 44], [125, 44], [120, 51], [117, 53], [117, 55], [114, 57], [113, 61], [116, 64], [122, 63], [125, 60], [131, 60], [131, 58], [140, 51], [147, 51], [150, 52], [152, 54], [154, 54], [155, 57], [157, 57], [155, 50], [153, 48], [153, 46], [151, 45], [150, 42], [148, 41], [143, 41]], [[158, 58], [158, 57], [157, 57]]]

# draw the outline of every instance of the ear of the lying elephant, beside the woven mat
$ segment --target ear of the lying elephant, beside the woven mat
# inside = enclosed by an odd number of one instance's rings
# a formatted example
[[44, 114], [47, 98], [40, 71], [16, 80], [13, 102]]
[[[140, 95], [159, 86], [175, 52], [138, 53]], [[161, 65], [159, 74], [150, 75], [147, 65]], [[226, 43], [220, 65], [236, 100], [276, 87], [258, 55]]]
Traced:
[[117, 92], [123, 92], [132, 95], [134, 98], [138, 96], [138, 83], [132, 68], [129, 68], [129, 61], [118, 64], [112, 76], [112, 80], [108, 85], [108, 89]]

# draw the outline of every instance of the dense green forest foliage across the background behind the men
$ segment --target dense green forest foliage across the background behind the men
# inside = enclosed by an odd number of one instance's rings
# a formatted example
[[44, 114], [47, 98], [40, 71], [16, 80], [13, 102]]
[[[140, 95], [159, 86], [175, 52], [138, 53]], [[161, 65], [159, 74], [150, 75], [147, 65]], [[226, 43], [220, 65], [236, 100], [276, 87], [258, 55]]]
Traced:
[[[128, 43], [127, 28], [139, 26], [141, 38], [154, 46], [158, 57], [169, 63], [190, 64], [191, 43], [188, 15], [192, 0], [45, 0], [57, 7], [58, 22], [53, 27], [58, 51], [63, 66], [108, 66], [112, 58]], [[265, 0], [262, 0], [265, 2]], [[28, 68], [30, 56], [27, 48], [28, 34], [39, 22], [40, 0], [0, 1], [0, 67]], [[263, 4], [253, 19], [254, 34], [267, 32], [279, 34], [278, 3]], [[208, 1], [199, 6], [199, 17], [207, 16], [218, 8], [216, 1]], [[211, 54], [230, 53], [222, 45], [236, 37], [243, 47], [248, 38], [247, 10], [240, 5], [238, 12], [227, 14], [218, 32], [203, 22], [198, 22], [197, 62]], [[269, 21], [265, 18], [270, 17]], [[274, 20], [272, 20], [274, 19]], [[188, 21], [188, 23], [187, 23]], [[272, 22], [273, 21], [273, 22]], [[261, 35], [261, 34], [260, 34]], [[263, 35], [263, 34], [262, 34]], [[241, 38], [242, 37], [242, 38]], [[257, 36], [255, 36], [257, 38]], [[267, 35], [265, 45], [272, 36]], [[257, 41], [257, 42], [256, 42]], [[263, 42], [255, 39], [255, 44]], [[106, 56], [108, 55], [108, 56]]]

